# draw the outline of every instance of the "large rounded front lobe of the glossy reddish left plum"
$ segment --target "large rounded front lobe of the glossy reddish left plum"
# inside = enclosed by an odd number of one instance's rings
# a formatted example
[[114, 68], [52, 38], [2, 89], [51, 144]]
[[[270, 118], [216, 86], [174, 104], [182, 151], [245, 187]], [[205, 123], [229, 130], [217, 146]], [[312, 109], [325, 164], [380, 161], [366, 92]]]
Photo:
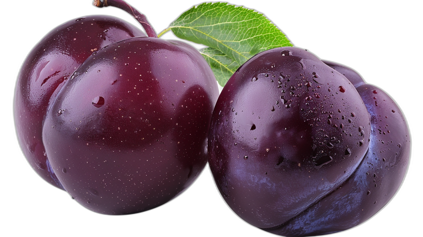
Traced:
[[43, 141], [58, 179], [106, 215], [159, 207], [198, 178], [219, 95], [200, 53], [136, 37], [93, 53], [58, 93]]

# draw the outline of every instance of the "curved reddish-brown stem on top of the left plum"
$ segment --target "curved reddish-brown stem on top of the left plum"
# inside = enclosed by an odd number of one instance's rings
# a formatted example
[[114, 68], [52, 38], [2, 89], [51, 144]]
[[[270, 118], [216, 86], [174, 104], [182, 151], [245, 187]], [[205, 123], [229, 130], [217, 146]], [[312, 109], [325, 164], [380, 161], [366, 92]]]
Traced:
[[143, 29], [146, 31], [148, 37], [157, 38], [156, 31], [154, 31], [150, 22], [148, 22], [147, 17], [144, 14], [141, 14], [137, 9], [133, 8], [131, 5], [126, 3], [123, 0], [94, 0], [93, 5], [102, 8], [102, 7], [115, 7], [123, 11], [126, 11], [132, 17], [134, 17], [138, 22], [140, 22]]

